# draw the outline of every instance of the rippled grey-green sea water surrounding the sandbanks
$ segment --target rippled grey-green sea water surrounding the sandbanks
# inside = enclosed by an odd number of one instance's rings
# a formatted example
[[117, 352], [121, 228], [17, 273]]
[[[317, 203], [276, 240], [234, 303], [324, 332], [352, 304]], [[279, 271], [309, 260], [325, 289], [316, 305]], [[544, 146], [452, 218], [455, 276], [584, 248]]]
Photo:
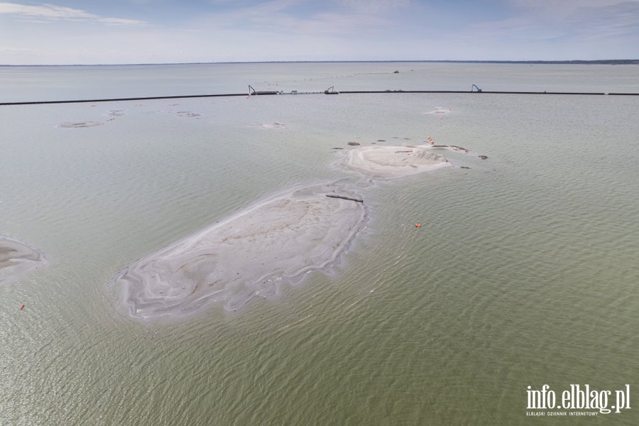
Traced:
[[[631, 65], [0, 72], [4, 102], [248, 84], [639, 92]], [[0, 283], [0, 423], [517, 425], [578, 411], [531, 410], [529, 391], [545, 384], [555, 405], [576, 384], [611, 391], [614, 405], [629, 384], [630, 409], [588, 421], [636, 424], [638, 111], [639, 97], [477, 93], [0, 107], [0, 236], [47, 261]], [[99, 125], [60, 126], [82, 122]], [[469, 153], [442, 151], [453, 168], [392, 180], [342, 167], [349, 142], [428, 137]], [[368, 209], [332, 273], [238, 312], [140, 322], [119, 310], [112, 284], [126, 266], [256, 200], [331, 180], [359, 187]]]

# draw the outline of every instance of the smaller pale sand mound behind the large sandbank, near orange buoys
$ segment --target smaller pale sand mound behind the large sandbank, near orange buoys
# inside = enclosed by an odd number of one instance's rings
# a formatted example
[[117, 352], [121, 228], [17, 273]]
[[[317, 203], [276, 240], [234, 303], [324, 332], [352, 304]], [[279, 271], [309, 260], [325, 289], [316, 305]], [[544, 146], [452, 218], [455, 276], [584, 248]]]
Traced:
[[384, 178], [399, 178], [406, 175], [451, 167], [444, 155], [433, 153], [420, 146], [363, 146], [346, 154], [349, 168]]

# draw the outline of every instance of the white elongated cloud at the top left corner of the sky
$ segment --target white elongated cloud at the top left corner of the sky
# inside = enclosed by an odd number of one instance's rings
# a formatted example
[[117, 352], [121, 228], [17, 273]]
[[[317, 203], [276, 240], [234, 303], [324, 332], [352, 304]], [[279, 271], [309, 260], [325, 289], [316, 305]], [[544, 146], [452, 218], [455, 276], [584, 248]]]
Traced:
[[26, 6], [16, 3], [0, 3], [0, 14], [15, 16], [19, 19], [31, 22], [45, 21], [92, 21], [104, 23], [110, 26], [142, 26], [146, 25], [144, 21], [126, 18], [108, 18], [94, 15], [80, 9], [72, 9], [65, 6], [56, 6], [55, 4], [43, 4], [42, 6]]

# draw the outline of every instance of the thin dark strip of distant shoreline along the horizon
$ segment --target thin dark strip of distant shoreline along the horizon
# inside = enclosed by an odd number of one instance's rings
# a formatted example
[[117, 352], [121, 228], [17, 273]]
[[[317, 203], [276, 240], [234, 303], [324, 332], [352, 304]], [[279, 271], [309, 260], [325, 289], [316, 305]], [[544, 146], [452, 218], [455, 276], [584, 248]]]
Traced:
[[463, 63], [463, 64], [529, 64], [529, 65], [639, 65], [639, 59], [600, 60], [271, 60], [244, 62], [158, 62], [139, 64], [38, 64], [0, 65], [0, 67], [121, 67], [141, 65], [214, 65], [214, 64], [304, 64], [304, 63]]

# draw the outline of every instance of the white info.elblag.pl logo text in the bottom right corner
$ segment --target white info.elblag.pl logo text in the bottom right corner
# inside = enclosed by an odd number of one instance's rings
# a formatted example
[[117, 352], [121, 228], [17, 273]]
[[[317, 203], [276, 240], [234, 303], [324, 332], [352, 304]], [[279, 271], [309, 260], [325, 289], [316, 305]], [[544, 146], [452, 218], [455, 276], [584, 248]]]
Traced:
[[[527, 412], [526, 415], [597, 415], [612, 413], [613, 410], [614, 413], [621, 413], [621, 410], [630, 409], [630, 385], [628, 384], [626, 388], [619, 391], [596, 391], [591, 389], [590, 385], [570, 385], [569, 389], [562, 391], [560, 397], [548, 385], [542, 386], [538, 391], [528, 386], [526, 393], [528, 410], [555, 410]], [[614, 405], [608, 407], [612, 403]]]

